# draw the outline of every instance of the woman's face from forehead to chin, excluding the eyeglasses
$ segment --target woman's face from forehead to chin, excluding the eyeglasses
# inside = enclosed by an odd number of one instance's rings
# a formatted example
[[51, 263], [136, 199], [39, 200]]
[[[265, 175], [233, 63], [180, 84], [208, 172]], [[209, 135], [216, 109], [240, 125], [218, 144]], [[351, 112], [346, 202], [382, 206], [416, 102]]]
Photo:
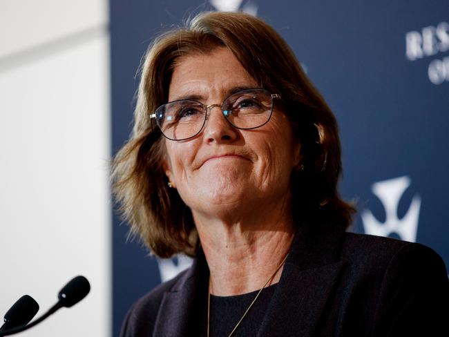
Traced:
[[[178, 59], [169, 102], [195, 97], [221, 104], [236, 88], [258, 88], [228, 48]], [[186, 141], [165, 139], [164, 171], [193, 214], [229, 215], [266, 209], [289, 197], [289, 178], [300, 160], [285, 114], [276, 109], [267, 124], [239, 130], [219, 107], [210, 110], [202, 132]]]

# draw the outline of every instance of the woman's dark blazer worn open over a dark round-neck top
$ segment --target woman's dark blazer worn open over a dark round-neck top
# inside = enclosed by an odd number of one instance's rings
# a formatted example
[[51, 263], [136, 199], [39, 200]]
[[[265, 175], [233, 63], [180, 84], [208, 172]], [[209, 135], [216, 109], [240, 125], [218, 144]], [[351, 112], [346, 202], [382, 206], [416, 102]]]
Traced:
[[[200, 254], [131, 307], [122, 336], [191, 336], [208, 276]], [[254, 336], [449, 336], [448, 308], [446, 267], [432, 249], [303, 227]]]

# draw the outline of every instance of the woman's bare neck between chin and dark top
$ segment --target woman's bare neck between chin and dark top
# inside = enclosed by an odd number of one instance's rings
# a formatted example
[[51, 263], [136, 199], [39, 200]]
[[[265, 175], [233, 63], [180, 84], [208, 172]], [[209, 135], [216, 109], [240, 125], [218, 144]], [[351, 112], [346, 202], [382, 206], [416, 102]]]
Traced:
[[283, 268], [275, 271], [290, 249], [294, 224], [284, 209], [263, 213], [232, 223], [194, 213], [213, 295], [249, 293], [262, 288], [271, 276], [267, 287], [280, 279]]

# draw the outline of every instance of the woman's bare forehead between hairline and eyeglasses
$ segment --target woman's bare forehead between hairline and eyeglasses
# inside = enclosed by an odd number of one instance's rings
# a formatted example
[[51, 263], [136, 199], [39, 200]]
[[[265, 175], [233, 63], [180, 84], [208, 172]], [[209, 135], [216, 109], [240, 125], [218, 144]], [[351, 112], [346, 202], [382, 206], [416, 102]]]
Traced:
[[169, 86], [169, 101], [193, 95], [208, 99], [226, 96], [234, 88], [257, 88], [229, 48], [219, 47], [207, 54], [181, 57], [175, 64]]

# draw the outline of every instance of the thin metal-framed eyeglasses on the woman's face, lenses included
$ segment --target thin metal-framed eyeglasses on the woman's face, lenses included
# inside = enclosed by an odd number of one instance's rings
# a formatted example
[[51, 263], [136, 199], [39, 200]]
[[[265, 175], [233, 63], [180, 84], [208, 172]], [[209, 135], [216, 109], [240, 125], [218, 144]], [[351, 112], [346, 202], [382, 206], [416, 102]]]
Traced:
[[255, 88], [234, 93], [221, 105], [207, 106], [191, 99], [180, 99], [163, 104], [150, 115], [150, 118], [156, 119], [164, 137], [175, 141], [186, 140], [202, 131], [206, 124], [207, 110], [220, 106], [223, 115], [232, 126], [249, 130], [267, 124], [273, 113], [275, 98], [280, 99], [280, 96], [271, 94], [265, 89]]

